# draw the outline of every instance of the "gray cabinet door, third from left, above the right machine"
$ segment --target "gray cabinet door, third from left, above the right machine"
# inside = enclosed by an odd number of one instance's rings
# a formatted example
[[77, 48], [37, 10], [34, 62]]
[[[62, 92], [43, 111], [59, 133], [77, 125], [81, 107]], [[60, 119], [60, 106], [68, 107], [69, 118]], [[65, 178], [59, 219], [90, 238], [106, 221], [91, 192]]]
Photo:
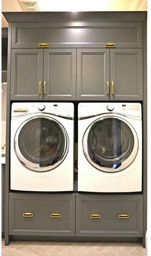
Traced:
[[109, 49], [77, 49], [77, 99], [107, 100]]

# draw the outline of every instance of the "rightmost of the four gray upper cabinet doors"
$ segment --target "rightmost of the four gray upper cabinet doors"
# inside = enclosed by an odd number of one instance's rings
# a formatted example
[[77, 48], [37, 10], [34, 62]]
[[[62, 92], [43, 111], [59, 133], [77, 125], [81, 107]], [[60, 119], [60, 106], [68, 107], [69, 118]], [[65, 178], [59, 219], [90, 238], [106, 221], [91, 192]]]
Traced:
[[143, 99], [142, 49], [110, 49], [111, 100]]

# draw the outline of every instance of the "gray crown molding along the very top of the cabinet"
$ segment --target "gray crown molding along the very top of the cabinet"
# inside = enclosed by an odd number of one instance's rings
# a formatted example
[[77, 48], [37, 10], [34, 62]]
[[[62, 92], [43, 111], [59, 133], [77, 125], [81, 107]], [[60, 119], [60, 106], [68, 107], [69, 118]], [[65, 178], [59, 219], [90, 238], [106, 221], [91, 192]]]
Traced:
[[3, 12], [9, 23], [12, 22], [143, 22], [147, 12]]

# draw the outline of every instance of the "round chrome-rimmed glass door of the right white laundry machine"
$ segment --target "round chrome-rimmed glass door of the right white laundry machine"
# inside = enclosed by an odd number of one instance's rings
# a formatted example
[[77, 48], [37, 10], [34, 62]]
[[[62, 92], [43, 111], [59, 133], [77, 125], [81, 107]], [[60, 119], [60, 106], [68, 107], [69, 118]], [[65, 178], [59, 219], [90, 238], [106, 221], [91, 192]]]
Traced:
[[117, 116], [97, 119], [83, 137], [83, 151], [100, 171], [122, 171], [138, 153], [138, 136], [130, 123]]

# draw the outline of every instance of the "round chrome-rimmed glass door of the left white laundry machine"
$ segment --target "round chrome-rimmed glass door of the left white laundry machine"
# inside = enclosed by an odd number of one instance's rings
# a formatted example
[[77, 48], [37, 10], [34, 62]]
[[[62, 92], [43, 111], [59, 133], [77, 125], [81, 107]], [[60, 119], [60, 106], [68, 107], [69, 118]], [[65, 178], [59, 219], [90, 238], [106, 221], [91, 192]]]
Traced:
[[49, 116], [32, 117], [22, 123], [15, 134], [15, 152], [28, 169], [50, 171], [67, 155], [67, 132]]

